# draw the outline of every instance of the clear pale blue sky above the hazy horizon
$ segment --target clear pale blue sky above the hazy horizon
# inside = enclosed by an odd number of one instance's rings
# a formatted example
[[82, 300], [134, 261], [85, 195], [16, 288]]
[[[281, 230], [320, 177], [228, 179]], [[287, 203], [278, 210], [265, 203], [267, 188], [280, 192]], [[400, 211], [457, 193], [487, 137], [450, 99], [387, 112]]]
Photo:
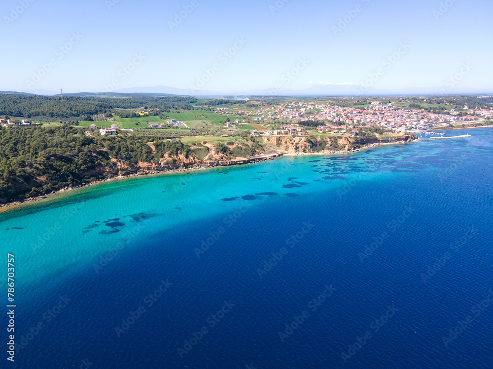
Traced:
[[[492, 91], [493, 2], [442, 2], [451, 5], [442, 7], [443, 15], [433, 13], [440, 11], [440, 0], [279, 0], [283, 5], [277, 10], [275, 0], [3, 0], [0, 90], [99, 92], [113, 80], [115, 89], [188, 89], [217, 63], [203, 89], [359, 84], [382, 68], [375, 88], [449, 91], [449, 77], [469, 63], [472, 69], [450, 91]], [[187, 5], [193, 10], [171, 29], [169, 22]], [[360, 11], [351, 22], [334, 32], [339, 19], [357, 5]], [[82, 38], [77, 41], [72, 34]], [[236, 43], [240, 47], [230, 59], [221, 57], [237, 38], [246, 43]], [[59, 48], [70, 40], [73, 45], [65, 54]], [[384, 58], [397, 52], [400, 43], [409, 49], [385, 66]], [[133, 71], [123, 71], [136, 54], [145, 59]], [[286, 84], [285, 72], [300, 58], [308, 64]], [[50, 59], [49, 72], [38, 73]], [[42, 75], [37, 82], [35, 73]]]

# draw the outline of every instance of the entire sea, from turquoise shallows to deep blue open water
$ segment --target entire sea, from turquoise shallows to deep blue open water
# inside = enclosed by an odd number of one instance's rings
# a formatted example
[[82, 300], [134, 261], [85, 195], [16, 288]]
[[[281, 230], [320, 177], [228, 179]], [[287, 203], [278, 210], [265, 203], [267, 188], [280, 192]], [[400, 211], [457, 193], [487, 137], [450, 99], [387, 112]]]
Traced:
[[0, 215], [0, 367], [493, 368], [493, 129], [457, 134]]

